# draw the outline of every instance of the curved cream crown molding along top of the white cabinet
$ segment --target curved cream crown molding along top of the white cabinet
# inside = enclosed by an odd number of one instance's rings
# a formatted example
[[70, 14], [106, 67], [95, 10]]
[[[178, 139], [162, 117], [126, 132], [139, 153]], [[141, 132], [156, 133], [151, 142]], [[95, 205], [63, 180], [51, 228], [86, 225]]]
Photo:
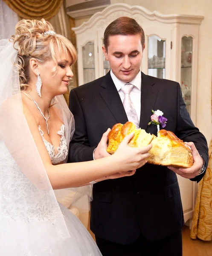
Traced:
[[107, 24], [118, 17], [129, 16], [135, 18], [139, 24], [142, 23], [142, 17], [148, 20], [157, 20], [161, 23], [181, 23], [181, 24], [197, 24], [203, 20], [203, 16], [197, 15], [164, 15], [160, 12], [151, 12], [142, 6], [130, 6], [125, 3], [117, 3], [107, 6], [102, 12], [96, 12], [87, 22], [73, 28], [76, 34], [84, 32], [86, 29], [92, 28], [98, 21], [98, 28], [103, 29]]

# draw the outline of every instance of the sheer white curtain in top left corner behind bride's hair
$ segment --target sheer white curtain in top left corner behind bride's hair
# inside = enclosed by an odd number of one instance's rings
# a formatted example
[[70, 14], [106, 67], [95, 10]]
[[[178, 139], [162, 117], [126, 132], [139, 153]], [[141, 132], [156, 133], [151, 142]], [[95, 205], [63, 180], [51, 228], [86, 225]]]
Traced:
[[0, 0], [0, 40], [10, 38], [15, 33], [18, 16], [3, 0]]

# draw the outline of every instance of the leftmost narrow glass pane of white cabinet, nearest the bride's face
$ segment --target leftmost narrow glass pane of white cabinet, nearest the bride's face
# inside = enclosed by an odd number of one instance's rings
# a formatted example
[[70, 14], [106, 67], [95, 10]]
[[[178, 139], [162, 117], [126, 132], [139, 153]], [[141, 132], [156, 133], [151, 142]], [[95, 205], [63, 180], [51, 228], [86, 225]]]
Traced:
[[95, 80], [94, 42], [87, 42], [82, 47], [84, 84]]

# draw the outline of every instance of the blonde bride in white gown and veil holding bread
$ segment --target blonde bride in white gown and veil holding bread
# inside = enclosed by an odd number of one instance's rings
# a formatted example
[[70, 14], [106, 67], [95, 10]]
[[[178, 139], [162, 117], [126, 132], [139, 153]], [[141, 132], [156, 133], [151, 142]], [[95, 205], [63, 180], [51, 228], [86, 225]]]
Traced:
[[[134, 175], [149, 156], [151, 145], [128, 146], [131, 134], [112, 156], [65, 163], [74, 119], [63, 94], [75, 61], [73, 45], [44, 19], [21, 20], [0, 41], [1, 256], [101, 255], [53, 189], [88, 195], [94, 180]], [[98, 147], [106, 148], [109, 131]]]

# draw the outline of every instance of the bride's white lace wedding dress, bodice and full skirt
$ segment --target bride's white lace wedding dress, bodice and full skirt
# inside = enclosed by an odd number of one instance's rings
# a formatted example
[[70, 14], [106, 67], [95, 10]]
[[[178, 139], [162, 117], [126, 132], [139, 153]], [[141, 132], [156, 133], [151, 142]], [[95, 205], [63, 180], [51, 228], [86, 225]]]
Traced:
[[[64, 125], [58, 131], [58, 134], [61, 135], [61, 143], [57, 148], [57, 154], [55, 154], [53, 145], [44, 139], [44, 132], [40, 126], [38, 129], [52, 163], [63, 161], [68, 154], [64, 136]], [[0, 224], [2, 225], [0, 229], [4, 232], [4, 237], [0, 237], [0, 240], [2, 239], [1, 241], [8, 243], [8, 246], [6, 246], [5, 244], [1, 244], [0, 241], [0, 255], [101, 256], [102, 254], [96, 243], [84, 225], [61, 204], [59, 206], [69, 233], [69, 238], [61, 239], [61, 243], [52, 241], [50, 246], [45, 244], [45, 239], [50, 241], [51, 236], [54, 237], [56, 235], [62, 237], [63, 235], [60, 234], [60, 230], [58, 230], [58, 233], [53, 234], [57, 212], [52, 210], [54, 207], [52, 207], [53, 203], [51, 201], [45, 205], [41, 201], [35, 202], [34, 195], [36, 193], [42, 193], [42, 198], [45, 199], [45, 195], [49, 196], [49, 192], [44, 192], [43, 190], [38, 191], [38, 188], [30, 181], [30, 177], [26, 177], [21, 172], [14, 155], [15, 153], [12, 157], [5, 143], [0, 141], [0, 205], [2, 212], [0, 215]], [[39, 195], [36, 197], [39, 197]], [[26, 205], [27, 207], [25, 207]], [[11, 226], [8, 226], [8, 224], [11, 224]], [[49, 232], [47, 232], [47, 235], [44, 235], [47, 227]], [[12, 232], [10, 229], [12, 229]], [[6, 237], [9, 237], [9, 241], [7, 241], [8, 239]], [[1, 249], [1, 245], [4, 249]]]

